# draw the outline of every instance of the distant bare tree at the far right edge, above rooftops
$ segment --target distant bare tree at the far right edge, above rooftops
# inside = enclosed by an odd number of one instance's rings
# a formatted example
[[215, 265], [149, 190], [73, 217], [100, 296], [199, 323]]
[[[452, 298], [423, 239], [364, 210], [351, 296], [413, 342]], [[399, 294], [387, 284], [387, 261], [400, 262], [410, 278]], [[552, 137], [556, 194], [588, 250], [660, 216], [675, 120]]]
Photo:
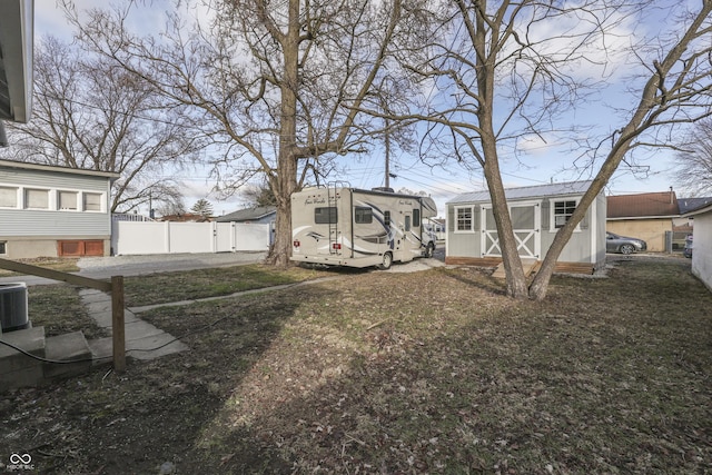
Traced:
[[712, 195], [712, 120], [701, 120], [678, 146], [673, 178], [676, 186], [694, 196]]

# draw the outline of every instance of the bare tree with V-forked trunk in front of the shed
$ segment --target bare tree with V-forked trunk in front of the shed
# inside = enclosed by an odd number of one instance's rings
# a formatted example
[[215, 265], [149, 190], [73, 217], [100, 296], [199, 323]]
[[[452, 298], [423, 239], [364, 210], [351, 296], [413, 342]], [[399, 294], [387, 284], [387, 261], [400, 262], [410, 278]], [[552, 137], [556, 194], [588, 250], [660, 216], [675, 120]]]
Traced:
[[[710, 115], [712, 1], [704, 0], [698, 12], [681, 20], [678, 36], [661, 38], [654, 48], [645, 42], [621, 43], [615, 36], [619, 26], [646, 9], [655, 9], [654, 3], [505, 0], [488, 4], [486, 0], [452, 0], [439, 7], [429, 7], [428, 14], [431, 21], [442, 19], [444, 34], [423, 49], [419, 62], [405, 58], [411, 61], [411, 71], [436, 93], [429, 97], [424, 112], [402, 118], [427, 121], [428, 131], [441, 142], [442, 131], [447, 131], [455, 157], [482, 167], [493, 204], [507, 295], [543, 299], [575, 226], [626, 154], [637, 147], [669, 146], [669, 136], [661, 130]], [[592, 186], [558, 229], [540, 271], [527, 285], [505, 198], [501, 156], [505, 150], [516, 150], [518, 141], [528, 137], [542, 138], [551, 132], [563, 136], [566, 131], [578, 132], [580, 137], [582, 130], [562, 127], [556, 116], [584, 105], [586, 93], [606, 86], [582, 75], [582, 70], [600, 67], [605, 75], [615, 43], [625, 47], [637, 61], [637, 71], [642, 71], [629, 81], [629, 97], [636, 98], [636, 103], [633, 110], [623, 111], [622, 127], [591, 150], [591, 164], [601, 162]], [[629, 68], [635, 70], [635, 65]]]

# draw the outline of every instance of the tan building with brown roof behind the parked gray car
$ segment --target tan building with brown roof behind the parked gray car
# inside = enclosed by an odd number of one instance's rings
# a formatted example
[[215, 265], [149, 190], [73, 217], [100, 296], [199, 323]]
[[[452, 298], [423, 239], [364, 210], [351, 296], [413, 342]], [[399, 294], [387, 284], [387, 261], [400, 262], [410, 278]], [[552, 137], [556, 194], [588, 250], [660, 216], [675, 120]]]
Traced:
[[678, 197], [671, 189], [661, 192], [607, 197], [606, 230], [647, 243], [647, 250], [665, 251], [665, 232], [673, 231], [680, 217]]

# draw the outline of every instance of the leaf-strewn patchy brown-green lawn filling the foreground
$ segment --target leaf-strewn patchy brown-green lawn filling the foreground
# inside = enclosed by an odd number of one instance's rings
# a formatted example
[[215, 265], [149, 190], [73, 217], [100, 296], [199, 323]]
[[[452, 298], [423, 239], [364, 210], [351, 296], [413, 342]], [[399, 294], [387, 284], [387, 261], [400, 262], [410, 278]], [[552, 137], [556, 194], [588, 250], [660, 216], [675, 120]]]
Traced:
[[61, 474], [710, 473], [711, 308], [689, 260], [644, 256], [554, 277], [543, 303], [441, 268], [159, 308], [141, 317], [189, 352], [3, 395], [0, 456]]

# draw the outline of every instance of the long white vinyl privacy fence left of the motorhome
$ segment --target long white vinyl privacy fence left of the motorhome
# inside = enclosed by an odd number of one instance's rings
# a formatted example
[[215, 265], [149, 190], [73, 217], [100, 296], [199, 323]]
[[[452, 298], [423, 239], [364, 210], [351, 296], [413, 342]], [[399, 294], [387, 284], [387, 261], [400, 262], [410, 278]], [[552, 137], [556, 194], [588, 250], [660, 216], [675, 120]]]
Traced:
[[270, 225], [244, 222], [112, 221], [113, 254], [268, 250]]

